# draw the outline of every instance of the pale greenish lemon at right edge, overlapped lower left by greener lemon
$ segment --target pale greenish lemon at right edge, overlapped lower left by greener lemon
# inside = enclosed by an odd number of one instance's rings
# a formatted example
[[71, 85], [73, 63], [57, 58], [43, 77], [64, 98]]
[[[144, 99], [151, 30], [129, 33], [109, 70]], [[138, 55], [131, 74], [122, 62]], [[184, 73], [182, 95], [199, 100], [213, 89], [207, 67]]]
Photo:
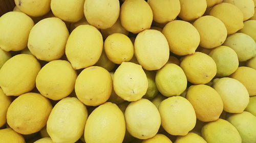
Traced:
[[236, 51], [240, 62], [247, 61], [256, 55], [255, 41], [243, 33], [235, 33], [228, 36], [223, 45]]

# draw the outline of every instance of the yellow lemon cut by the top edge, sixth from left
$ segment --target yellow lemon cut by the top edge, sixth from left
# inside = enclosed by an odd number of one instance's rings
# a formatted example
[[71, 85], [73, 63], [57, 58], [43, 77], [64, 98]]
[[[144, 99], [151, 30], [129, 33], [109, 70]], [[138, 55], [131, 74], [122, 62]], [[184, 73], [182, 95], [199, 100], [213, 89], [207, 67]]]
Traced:
[[201, 17], [207, 7], [205, 0], [180, 0], [179, 17], [185, 21], [191, 21]]

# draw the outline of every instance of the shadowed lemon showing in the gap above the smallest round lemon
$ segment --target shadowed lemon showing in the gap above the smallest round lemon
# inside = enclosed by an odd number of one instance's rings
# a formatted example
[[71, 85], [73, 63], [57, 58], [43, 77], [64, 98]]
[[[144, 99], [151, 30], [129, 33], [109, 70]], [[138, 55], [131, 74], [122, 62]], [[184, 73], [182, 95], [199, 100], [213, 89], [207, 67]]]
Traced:
[[113, 26], [106, 28], [106, 29], [101, 29], [100, 32], [104, 39], [106, 39], [106, 37], [108, 37], [109, 35], [112, 35], [114, 33], [121, 33], [126, 36], [129, 34], [129, 32], [126, 31], [125, 28], [122, 26], [120, 18], [118, 18], [116, 20], [116, 23]]

